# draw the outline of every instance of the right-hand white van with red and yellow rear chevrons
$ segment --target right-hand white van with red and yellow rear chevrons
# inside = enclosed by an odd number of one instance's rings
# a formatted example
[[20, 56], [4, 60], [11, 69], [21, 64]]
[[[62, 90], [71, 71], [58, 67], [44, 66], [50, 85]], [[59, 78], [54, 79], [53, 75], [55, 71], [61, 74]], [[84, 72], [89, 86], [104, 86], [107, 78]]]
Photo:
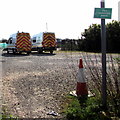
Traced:
[[50, 51], [53, 54], [54, 50], [56, 50], [55, 33], [42, 32], [32, 37], [32, 51], [38, 51], [38, 53]]

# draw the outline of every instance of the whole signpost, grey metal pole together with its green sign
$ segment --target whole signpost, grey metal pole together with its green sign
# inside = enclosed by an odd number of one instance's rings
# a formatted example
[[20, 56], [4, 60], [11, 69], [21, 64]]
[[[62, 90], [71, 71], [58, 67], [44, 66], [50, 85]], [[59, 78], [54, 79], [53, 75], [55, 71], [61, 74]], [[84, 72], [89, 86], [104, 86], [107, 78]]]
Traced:
[[111, 19], [112, 8], [105, 8], [105, 0], [101, 0], [101, 8], [95, 8], [94, 18], [101, 18], [101, 52], [102, 52], [102, 104], [107, 109], [106, 86], [106, 26], [105, 19]]

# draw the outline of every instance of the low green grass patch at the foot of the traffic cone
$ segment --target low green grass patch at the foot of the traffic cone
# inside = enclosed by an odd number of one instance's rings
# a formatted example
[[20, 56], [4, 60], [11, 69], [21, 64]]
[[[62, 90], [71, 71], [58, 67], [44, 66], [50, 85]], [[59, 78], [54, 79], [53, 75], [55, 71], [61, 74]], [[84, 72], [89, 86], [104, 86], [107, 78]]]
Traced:
[[111, 120], [103, 114], [100, 98], [88, 98], [84, 105], [74, 96], [67, 96], [67, 100], [69, 103], [66, 104], [64, 113], [68, 120]]

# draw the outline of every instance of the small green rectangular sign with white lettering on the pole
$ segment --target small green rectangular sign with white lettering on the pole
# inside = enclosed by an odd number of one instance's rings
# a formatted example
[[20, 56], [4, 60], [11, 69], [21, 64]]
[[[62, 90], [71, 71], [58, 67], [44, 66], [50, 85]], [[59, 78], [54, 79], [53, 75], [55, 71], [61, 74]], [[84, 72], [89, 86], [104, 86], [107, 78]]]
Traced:
[[94, 18], [111, 19], [112, 8], [95, 8]]

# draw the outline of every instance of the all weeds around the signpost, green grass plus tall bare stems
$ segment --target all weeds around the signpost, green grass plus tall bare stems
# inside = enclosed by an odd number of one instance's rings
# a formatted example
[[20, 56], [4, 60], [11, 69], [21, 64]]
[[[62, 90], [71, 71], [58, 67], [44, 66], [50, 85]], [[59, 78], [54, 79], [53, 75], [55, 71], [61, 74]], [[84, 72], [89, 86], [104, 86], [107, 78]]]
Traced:
[[[95, 97], [89, 98], [84, 108], [78, 99], [72, 98], [75, 102], [72, 101], [68, 106], [66, 110], [67, 118], [69, 120], [109, 120], [111, 117], [120, 118], [120, 57], [111, 54], [106, 55], [108, 109], [107, 111], [102, 111], [100, 98], [102, 94], [101, 54], [82, 53], [80, 56], [83, 59], [88, 89], [95, 93]], [[105, 115], [103, 114], [104, 112]]]

